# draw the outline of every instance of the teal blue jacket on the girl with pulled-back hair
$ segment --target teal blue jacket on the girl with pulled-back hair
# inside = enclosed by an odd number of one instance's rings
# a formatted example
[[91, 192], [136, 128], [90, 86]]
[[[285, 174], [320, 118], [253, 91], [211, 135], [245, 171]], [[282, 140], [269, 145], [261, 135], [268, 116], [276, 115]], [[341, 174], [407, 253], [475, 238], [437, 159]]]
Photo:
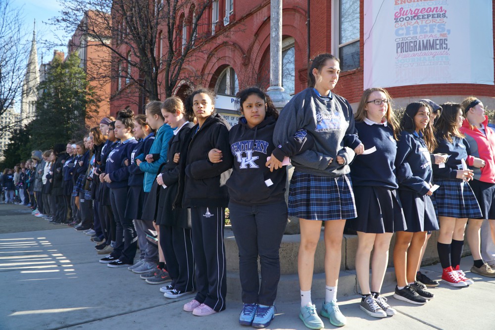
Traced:
[[158, 169], [160, 165], [167, 162], [167, 152], [168, 152], [168, 141], [174, 136], [174, 131], [167, 124], [162, 125], [158, 131], [156, 131], [156, 137], [149, 149], [149, 153], [159, 153], [160, 158], [151, 163], [145, 161], [146, 155], [144, 153], [140, 154], [136, 159], [142, 161], [139, 165], [141, 171], [145, 172], [144, 179], [144, 190], [145, 192], [149, 192], [151, 190], [151, 186], [153, 185], [153, 181], [158, 174]]

